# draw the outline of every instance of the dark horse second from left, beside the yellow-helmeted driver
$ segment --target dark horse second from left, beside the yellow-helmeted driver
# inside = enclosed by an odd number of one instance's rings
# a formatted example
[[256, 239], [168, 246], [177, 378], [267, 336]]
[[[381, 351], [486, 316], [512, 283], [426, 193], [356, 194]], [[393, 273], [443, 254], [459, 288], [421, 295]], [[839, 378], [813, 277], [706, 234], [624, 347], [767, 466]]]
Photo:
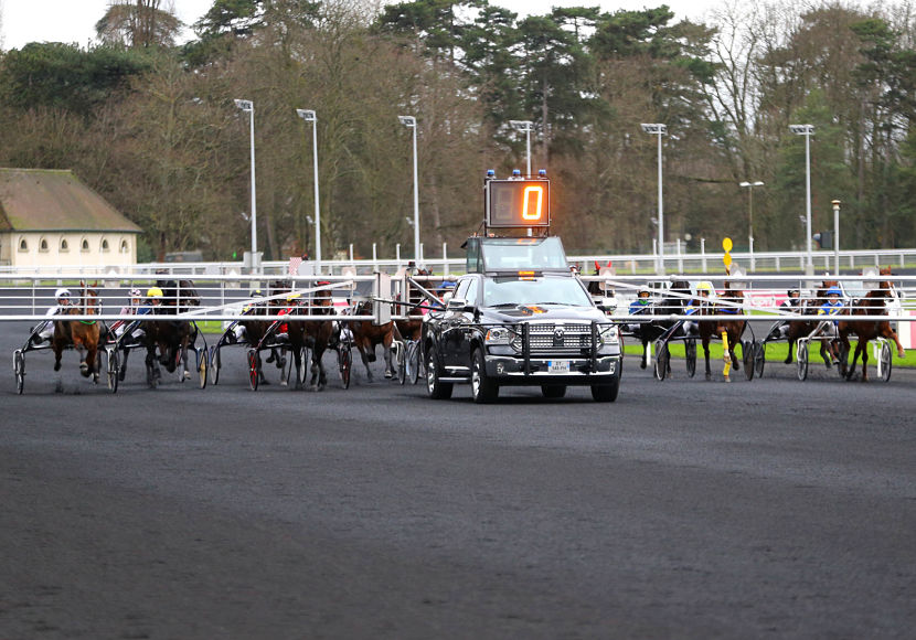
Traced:
[[[163, 294], [163, 303], [157, 309], [160, 314], [174, 316], [201, 302], [191, 280], [167, 280], [160, 288]], [[191, 376], [188, 371], [188, 345], [196, 338], [196, 328], [191, 322], [188, 320], [146, 320], [143, 331], [147, 348], [147, 383], [150, 386], [156, 387], [161, 377], [160, 364], [164, 365], [169, 373], [174, 373], [180, 362], [183, 376], [185, 378]], [[159, 349], [158, 361], [157, 348]]]

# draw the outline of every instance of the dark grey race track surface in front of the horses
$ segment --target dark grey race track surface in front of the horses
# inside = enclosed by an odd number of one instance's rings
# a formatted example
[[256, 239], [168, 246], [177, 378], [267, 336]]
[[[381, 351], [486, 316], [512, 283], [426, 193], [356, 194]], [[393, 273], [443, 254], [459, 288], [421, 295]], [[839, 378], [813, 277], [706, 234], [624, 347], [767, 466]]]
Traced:
[[[117, 394], [0, 324], [0, 638], [913, 638], [916, 374]], [[913, 355], [916, 358], [916, 354]], [[702, 367], [702, 364], [701, 364]]]

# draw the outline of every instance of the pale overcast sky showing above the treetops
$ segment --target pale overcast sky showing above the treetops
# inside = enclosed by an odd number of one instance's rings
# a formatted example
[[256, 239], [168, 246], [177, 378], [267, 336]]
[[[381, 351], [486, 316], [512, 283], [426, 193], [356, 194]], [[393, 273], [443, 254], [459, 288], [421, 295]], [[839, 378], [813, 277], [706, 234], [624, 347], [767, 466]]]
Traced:
[[[169, 0], [164, 0], [166, 6]], [[213, 0], [173, 0], [178, 18], [193, 24], [203, 15]], [[20, 49], [28, 42], [74, 42], [81, 46], [95, 38], [95, 23], [105, 14], [110, 0], [0, 0], [2, 7], [2, 47]], [[600, 4], [604, 11], [638, 10], [668, 4], [675, 17], [700, 19], [715, 0], [491, 0], [519, 14], [547, 13], [551, 7], [588, 7]], [[191, 36], [192, 34], [188, 34]]]

